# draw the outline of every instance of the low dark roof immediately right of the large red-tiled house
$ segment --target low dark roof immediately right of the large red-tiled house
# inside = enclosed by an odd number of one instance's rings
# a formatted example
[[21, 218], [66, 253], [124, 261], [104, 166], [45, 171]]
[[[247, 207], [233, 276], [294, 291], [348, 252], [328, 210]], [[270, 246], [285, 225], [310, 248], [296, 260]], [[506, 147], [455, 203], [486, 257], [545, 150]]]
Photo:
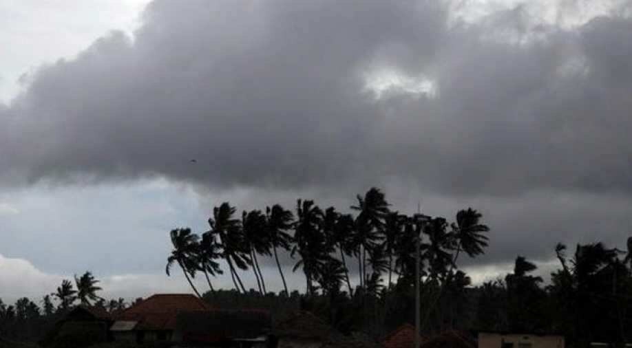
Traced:
[[180, 312], [176, 331], [185, 341], [215, 342], [224, 339], [253, 339], [270, 334], [270, 313], [259, 309]]

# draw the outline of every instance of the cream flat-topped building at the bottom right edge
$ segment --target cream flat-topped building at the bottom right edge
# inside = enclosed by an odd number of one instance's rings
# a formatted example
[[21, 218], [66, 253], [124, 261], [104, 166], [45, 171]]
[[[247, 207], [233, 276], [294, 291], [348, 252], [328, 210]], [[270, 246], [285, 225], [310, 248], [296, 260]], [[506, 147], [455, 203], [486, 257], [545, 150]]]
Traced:
[[519, 334], [479, 332], [478, 348], [564, 348], [564, 336], [557, 334]]

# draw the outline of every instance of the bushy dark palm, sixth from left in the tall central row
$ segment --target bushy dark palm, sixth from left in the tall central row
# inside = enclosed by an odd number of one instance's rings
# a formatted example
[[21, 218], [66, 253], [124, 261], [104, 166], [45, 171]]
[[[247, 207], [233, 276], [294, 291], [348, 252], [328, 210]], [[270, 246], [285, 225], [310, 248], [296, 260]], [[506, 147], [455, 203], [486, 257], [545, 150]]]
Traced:
[[324, 234], [321, 231], [323, 224], [323, 212], [314, 201], [297, 200], [297, 221], [295, 222], [294, 239], [296, 244], [291, 255], [299, 254], [301, 259], [294, 265], [293, 271], [303, 268], [307, 283], [308, 294], [314, 293], [313, 281], [317, 275], [319, 261], [322, 259], [326, 244]]

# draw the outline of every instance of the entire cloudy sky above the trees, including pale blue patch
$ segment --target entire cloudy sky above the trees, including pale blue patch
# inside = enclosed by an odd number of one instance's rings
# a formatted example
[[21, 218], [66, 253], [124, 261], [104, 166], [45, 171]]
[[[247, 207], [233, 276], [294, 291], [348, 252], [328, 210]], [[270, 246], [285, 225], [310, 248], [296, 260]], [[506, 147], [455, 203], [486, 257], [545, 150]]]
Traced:
[[0, 297], [85, 270], [106, 296], [188, 291], [164, 275], [171, 228], [202, 232], [225, 200], [344, 209], [370, 186], [405, 213], [480, 210], [475, 281], [517, 254], [549, 272], [558, 241], [624, 248], [631, 15], [622, 0], [0, 0]]

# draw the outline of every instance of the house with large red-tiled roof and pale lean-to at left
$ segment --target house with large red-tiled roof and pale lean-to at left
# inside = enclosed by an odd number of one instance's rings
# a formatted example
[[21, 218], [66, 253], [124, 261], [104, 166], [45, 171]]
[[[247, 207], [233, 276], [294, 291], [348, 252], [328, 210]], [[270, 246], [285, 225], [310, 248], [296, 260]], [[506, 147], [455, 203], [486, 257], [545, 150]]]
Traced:
[[155, 294], [117, 314], [109, 331], [115, 341], [171, 342], [179, 313], [210, 309], [191, 294]]

